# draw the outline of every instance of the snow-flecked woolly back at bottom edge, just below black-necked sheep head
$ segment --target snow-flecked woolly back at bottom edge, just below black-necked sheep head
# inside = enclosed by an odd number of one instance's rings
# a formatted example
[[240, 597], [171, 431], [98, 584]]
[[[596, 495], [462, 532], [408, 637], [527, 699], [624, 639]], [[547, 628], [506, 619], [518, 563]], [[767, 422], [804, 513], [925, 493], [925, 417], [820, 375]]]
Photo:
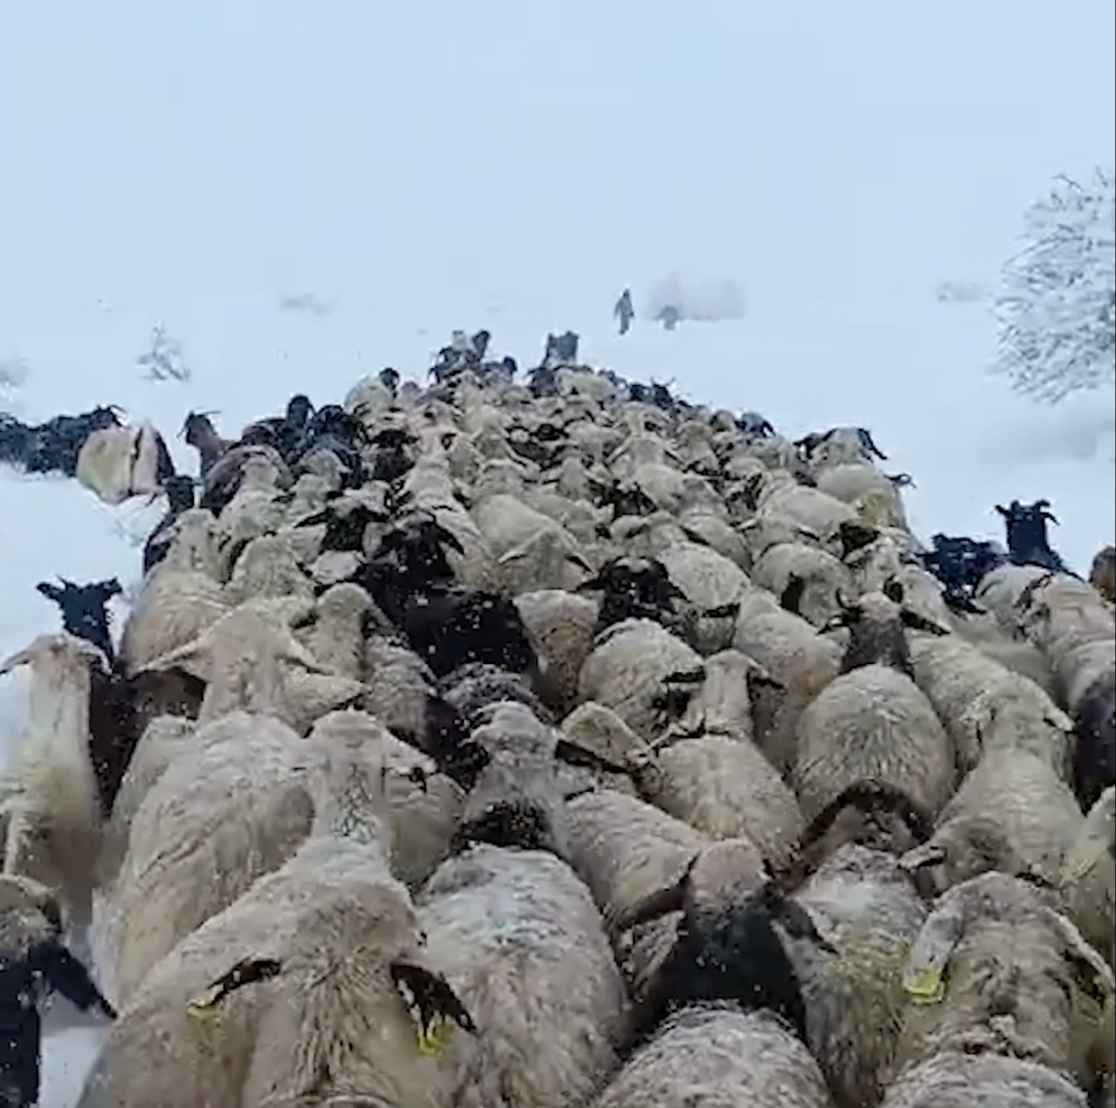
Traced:
[[830, 1108], [833, 1101], [817, 1062], [782, 1020], [734, 1004], [692, 1004], [662, 1024], [593, 1108], [706, 1104]]

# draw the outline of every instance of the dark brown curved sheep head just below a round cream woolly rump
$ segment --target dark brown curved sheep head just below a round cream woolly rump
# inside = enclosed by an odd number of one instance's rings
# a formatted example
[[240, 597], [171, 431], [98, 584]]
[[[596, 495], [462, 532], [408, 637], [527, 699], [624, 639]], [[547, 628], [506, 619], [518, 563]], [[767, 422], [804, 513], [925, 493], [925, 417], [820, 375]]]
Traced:
[[847, 843], [899, 857], [924, 843], [933, 831], [930, 814], [903, 790], [885, 781], [858, 781], [827, 804], [802, 833], [797, 880]]

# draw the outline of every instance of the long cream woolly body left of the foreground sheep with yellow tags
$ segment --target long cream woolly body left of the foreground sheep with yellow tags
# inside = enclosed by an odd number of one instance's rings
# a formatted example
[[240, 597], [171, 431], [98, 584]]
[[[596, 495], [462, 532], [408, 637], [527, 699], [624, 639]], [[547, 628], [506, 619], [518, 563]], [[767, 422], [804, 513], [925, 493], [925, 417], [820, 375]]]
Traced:
[[234, 713], [200, 727], [192, 743], [192, 756], [173, 758], [140, 802], [105, 905], [98, 939], [110, 957], [102, 970], [117, 1001], [310, 830], [308, 751], [290, 728]]

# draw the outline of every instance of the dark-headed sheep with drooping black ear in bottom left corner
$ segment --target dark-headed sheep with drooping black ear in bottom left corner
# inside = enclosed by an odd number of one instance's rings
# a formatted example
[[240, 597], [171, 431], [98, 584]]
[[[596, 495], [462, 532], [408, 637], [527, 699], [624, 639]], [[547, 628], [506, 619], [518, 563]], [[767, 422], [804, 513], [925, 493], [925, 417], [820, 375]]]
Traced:
[[61, 942], [54, 894], [38, 881], [0, 877], [0, 1108], [39, 1102], [39, 1002], [61, 993], [83, 1012], [116, 1019], [89, 972]]

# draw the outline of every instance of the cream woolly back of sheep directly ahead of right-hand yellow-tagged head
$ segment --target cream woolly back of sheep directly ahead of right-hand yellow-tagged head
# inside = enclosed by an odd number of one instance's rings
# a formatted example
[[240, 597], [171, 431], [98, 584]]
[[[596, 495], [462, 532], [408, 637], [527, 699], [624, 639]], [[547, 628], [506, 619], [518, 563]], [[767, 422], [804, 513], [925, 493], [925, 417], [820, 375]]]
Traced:
[[925, 870], [940, 891], [990, 869], [1054, 885], [1083, 822], [1076, 797], [1046, 761], [1022, 749], [990, 751], [904, 866]]

